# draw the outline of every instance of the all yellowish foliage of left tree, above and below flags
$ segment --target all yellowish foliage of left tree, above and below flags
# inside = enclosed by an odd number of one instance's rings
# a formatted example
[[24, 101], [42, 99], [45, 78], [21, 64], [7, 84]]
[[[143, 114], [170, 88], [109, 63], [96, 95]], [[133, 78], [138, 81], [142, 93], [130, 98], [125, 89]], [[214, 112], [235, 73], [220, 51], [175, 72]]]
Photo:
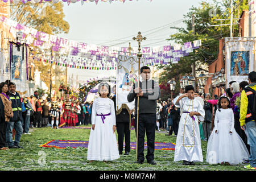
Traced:
[[[69, 23], [64, 20], [63, 2], [59, 3], [26, 3], [19, 2], [19, 5], [11, 6], [11, 19], [16, 22], [38, 31], [46, 32], [47, 34], [67, 34], [69, 31]], [[36, 55], [39, 49], [31, 45], [32, 53]], [[49, 50], [48, 50], [49, 51]], [[47, 50], [40, 53], [46, 53]], [[35, 66], [41, 72], [40, 79], [50, 86], [50, 68], [51, 64], [44, 64], [43, 61], [35, 61]], [[55, 77], [55, 84], [52, 84], [52, 89], [59, 93], [59, 85], [63, 78], [63, 68], [52, 68], [52, 78]]]

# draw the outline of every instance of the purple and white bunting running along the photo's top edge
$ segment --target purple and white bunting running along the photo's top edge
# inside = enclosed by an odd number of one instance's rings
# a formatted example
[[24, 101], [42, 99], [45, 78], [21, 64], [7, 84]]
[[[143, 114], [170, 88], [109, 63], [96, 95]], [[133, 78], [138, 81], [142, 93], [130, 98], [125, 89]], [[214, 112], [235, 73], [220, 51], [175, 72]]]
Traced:
[[[85, 2], [86, 3], [95, 2], [96, 5], [97, 5], [98, 2], [100, 2], [100, 0], [2, 0], [2, 1], [3, 2], [10, 1], [10, 3], [14, 3], [14, 4], [18, 4], [19, 2], [22, 2], [23, 4], [26, 4], [27, 2], [30, 2], [30, 3], [43, 3], [43, 2], [58, 3], [60, 1], [63, 1], [63, 2], [67, 2], [68, 5], [70, 3], [77, 3], [77, 2], [81, 2], [81, 5], [84, 5]], [[101, 0], [101, 2], [109, 2], [109, 3], [112, 3], [114, 1], [119, 1], [119, 2], [125, 3], [125, 1], [128, 1], [128, 0]], [[133, 0], [129, 0], [129, 1], [133, 1]], [[151, 2], [152, 0], [147, 0], [147, 1]]]

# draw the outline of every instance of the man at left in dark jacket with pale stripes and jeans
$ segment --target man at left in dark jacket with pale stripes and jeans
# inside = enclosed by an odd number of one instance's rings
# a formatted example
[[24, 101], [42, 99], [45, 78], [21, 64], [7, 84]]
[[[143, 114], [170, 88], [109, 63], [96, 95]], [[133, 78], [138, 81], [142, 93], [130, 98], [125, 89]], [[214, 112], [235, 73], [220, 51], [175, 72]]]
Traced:
[[[10, 119], [10, 122], [7, 124], [7, 143], [9, 148], [23, 148], [19, 146], [19, 141], [22, 136], [22, 104], [20, 101], [19, 93], [15, 92], [16, 85], [14, 82], [10, 82], [9, 84], [9, 97], [11, 100], [11, 107], [13, 107], [13, 118]], [[13, 129], [16, 131], [15, 141], [13, 142]]]

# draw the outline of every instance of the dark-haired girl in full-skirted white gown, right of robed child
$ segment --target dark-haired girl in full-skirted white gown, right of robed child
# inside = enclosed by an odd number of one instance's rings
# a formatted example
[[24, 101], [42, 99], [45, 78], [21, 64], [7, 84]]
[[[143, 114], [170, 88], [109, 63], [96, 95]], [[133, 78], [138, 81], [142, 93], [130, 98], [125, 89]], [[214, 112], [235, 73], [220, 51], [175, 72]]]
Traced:
[[229, 98], [221, 96], [214, 118], [214, 128], [207, 144], [209, 164], [239, 164], [249, 158], [243, 140], [234, 129], [234, 113]]

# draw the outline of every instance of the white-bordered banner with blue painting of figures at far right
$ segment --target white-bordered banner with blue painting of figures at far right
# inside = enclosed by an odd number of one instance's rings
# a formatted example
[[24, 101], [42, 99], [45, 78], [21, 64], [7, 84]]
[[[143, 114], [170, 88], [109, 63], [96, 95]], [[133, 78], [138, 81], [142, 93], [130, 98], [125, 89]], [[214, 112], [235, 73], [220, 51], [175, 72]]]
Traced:
[[226, 86], [230, 81], [247, 81], [254, 69], [255, 38], [225, 38]]

